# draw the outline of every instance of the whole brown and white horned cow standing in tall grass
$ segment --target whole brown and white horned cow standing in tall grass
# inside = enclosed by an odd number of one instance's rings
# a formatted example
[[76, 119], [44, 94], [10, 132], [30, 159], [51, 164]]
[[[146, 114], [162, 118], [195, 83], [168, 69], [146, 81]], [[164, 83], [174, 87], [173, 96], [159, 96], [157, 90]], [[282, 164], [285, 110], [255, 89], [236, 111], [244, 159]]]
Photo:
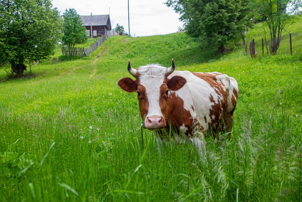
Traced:
[[[137, 92], [143, 126], [153, 130], [160, 149], [165, 135], [191, 144], [205, 158], [204, 136], [212, 130], [228, 133], [233, 127], [233, 112], [239, 94], [237, 81], [218, 72], [174, 71], [151, 64], [128, 71], [135, 78], [122, 78], [124, 91]], [[171, 130], [172, 129], [172, 130]], [[170, 131], [171, 130], [171, 131]]]

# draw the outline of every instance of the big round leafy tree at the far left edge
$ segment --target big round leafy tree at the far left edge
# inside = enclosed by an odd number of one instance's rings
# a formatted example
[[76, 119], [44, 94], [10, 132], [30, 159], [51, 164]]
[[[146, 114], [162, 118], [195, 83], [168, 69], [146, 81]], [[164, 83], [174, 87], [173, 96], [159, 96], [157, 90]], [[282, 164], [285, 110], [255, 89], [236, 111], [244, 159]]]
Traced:
[[1, 0], [0, 63], [8, 61], [20, 78], [26, 62], [54, 54], [61, 27], [50, 0]]

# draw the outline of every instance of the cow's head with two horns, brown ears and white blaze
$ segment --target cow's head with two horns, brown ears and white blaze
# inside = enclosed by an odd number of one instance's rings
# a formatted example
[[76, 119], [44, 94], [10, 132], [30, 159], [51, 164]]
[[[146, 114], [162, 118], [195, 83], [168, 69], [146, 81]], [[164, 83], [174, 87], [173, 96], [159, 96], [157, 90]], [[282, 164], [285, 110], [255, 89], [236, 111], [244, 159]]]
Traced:
[[137, 92], [140, 115], [148, 129], [167, 126], [169, 91], [177, 91], [187, 82], [181, 76], [167, 78], [174, 70], [173, 59], [170, 68], [151, 64], [137, 69], [131, 67], [129, 60], [128, 71], [135, 80], [125, 77], [117, 82], [124, 91]]

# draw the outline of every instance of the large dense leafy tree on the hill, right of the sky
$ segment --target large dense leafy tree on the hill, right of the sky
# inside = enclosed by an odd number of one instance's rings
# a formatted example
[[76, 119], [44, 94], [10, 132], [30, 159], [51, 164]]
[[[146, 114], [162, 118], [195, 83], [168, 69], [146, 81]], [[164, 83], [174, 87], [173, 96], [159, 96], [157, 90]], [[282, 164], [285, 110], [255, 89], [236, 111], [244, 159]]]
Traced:
[[252, 26], [249, 1], [168, 0], [165, 4], [181, 14], [188, 35], [217, 45], [219, 52]]

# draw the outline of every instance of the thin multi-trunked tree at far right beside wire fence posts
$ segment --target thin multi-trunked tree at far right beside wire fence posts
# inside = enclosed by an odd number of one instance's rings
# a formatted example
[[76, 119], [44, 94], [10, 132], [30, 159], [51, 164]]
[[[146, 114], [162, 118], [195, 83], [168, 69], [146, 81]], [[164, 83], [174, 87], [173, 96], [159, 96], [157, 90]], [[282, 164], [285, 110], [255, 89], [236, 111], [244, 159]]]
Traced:
[[[294, 14], [297, 14], [300, 6], [300, 0], [255, 1], [255, 8], [257, 8], [257, 13], [259, 14], [258, 16], [256, 15], [256, 18], [262, 21], [265, 32], [265, 44], [269, 47], [271, 54], [275, 55], [277, 53], [282, 32], [295, 18]], [[269, 29], [269, 41], [266, 38], [265, 25]]]

